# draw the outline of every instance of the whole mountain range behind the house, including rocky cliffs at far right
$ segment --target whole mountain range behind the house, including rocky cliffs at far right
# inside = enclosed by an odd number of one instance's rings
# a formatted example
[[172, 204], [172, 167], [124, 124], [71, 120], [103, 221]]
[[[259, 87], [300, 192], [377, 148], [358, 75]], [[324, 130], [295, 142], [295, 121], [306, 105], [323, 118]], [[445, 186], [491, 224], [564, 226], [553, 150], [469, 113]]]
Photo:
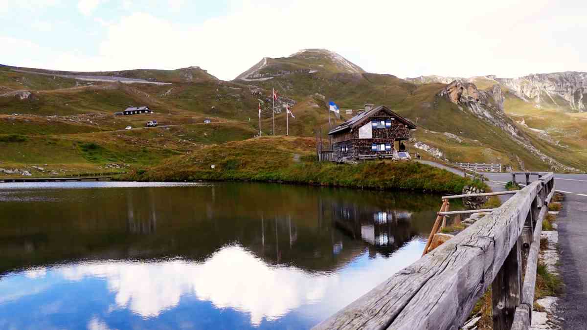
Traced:
[[[582, 93], [581, 72], [533, 78], [555, 86], [550, 90], [538, 89], [538, 100], [522, 94], [525, 89], [516, 92], [514, 88], [515, 84], [525, 88], [536, 86], [538, 82], [528, 82], [531, 78], [501, 82], [495, 75], [400, 79], [367, 73], [336, 55], [329, 50], [302, 49], [284, 58], [263, 58], [241, 74], [244, 79], [230, 81], [217, 79], [197, 66], [100, 72], [100, 79], [92, 81], [83, 80], [87, 73], [60, 72], [60, 76], [51, 70], [23, 71], [0, 66], [0, 130], [18, 134], [50, 131], [57, 134], [58, 146], [66, 146], [74, 139], [68, 132], [82, 130], [90, 133], [78, 134], [75, 139], [101, 144], [104, 134], [110, 133], [96, 130], [106, 130], [117, 137], [108, 140], [112, 144], [104, 144], [104, 149], [131, 148], [134, 140], [142, 139], [141, 146], [154, 148], [154, 154], [164, 157], [168, 148], [190, 152], [200, 142], [251, 137], [259, 131], [259, 106], [262, 134], [271, 134], [271, 89], [275, 88], [279, 93], [275, 102], [276, 134], [285, 133], [286, 105], [297, 117], [289, 120], [289, 132], [308, 137], [328, 131], [328, 100], [345, 110], [340, 119], [332, 117], [335, 123], [345, 120], [347, 109], [352, 109], [350, 113], [354, 115], [365, 103], [376, 103], [390, 106], [416, 123], [419, 129], [410, 143], [430, 157], [453, 162], [502, 163], [514, 169], [587, 170], [587, 116], [583, 116], [587, 112], [581, 113], [578, 108], [581, 97], [576, 96], [573, 109], [570, 98], [565, 100], [562, 95], [565, 88], [571, 90], [567, 95], [577, 94], [577, 90]], [[120, 72], [133, 85], [105, 79]], [[561, 95], [553, 92], [556, 88], [564, 89]], [[180, 126], [170, 132], [173, 134], [158, 137], [149, 137], [154, 130], [138, 135], [134, 130], [114, 133], [126, 125], [144, 126], [140, 116], [112, 115], [130, 105], [148, 105], [155, 111], [149, 120]], [[218, 123], [203, 130], [197, 125], [204, 118]], [[55, 120], [59, 125], [53, 123]], [[41, 128], [29, 122], [41, 124]], [[46, 127], [48, 123], [52, 123], [51, 128]], [[183, 132], [181, 127], [189, 127], [191, 133]], [[134, 135], [127, 136], [131, 133]], [[39, 137], [30, 139], [36, 141]], [[150, 144], [150, 139], [157, 144]], [[69, 145], [59, 152], [77, 153], [76, 150]], [[19, 149], [13, 151], [11, 161], [33, 161], [26, 157], [21, 160]], [[2, 157], [0, 161], [6, 161], [8, 156]]]

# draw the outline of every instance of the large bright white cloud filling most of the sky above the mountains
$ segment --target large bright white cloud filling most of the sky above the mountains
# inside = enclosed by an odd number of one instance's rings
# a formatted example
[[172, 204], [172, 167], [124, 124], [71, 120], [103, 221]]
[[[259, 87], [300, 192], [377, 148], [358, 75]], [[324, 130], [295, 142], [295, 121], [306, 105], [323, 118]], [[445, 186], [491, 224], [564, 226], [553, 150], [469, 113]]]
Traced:
[[[98, 1], [82, 0], [89, 5], [80, 10], [91, 13]], [[581, 56], [587, 45], [579, 42], [587, 21], [573, 14], [586, 9], [585, 2], [562, 6], [546, 0], [495, 0], [491, 6], [457, 8], [437, 1], [233, 0], [225, 15], [187, 25], [156, 12], [114, 17], [103, 26], [97, 53], [42, 49], [48, 56], [41, 64], [63, 70], [197, 65], [218, 78], [233, 79], [263, 56], [327, 48], [369, 72], [402, 78], [587, 70]], [[22, 53], [9, 58], [29, 60]]]

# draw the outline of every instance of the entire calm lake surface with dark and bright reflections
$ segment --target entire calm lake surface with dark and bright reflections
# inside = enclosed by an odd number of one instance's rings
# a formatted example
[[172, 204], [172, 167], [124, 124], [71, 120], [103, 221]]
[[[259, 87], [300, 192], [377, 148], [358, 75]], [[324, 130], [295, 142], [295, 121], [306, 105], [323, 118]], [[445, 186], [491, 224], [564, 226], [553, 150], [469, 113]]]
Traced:
[[305, 329], [417, 260], [438, 196], [0, 184], [0, 329]]

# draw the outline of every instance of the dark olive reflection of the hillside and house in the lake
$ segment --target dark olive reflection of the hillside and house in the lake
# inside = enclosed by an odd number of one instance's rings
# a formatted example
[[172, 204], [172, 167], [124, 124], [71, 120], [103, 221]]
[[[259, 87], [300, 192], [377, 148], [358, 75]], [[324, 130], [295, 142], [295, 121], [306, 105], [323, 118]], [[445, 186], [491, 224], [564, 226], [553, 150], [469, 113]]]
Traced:
[[[9, 193], [50, 200], [2, 202], [0, 273], [80, 259], [203, 261], [234, 243], [269, 264], [332, 271], [366, 248], [389, 256], [429, 231], [438, 207], [435, 196], [277, 184]], [[346, 219], [347, 209], [359, 215]]]

